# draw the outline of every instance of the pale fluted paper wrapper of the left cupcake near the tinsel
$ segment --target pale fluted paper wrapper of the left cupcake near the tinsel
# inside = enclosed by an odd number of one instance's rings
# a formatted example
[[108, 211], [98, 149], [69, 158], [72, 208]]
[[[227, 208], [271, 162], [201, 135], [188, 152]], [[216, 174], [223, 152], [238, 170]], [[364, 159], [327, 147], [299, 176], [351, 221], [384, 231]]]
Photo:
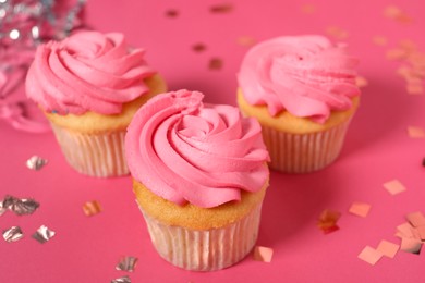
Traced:
[[105, 134], [81, 134], [51, 123], [68, 163], [80, 173], [97, 176], [129, 174], [124, 156], [125, 130]]

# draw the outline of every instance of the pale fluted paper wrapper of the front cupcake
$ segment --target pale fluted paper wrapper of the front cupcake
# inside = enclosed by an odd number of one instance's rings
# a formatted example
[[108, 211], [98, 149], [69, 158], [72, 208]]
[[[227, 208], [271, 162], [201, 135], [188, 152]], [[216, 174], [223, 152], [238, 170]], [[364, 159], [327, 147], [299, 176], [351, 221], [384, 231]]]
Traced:
[[262, 204], [243, 219], [211, 230], [172, 226], [149, 217], [141, 208], [150, 239], [158, 254], [170, 263], [193, 271], [224, 269], [241, 261], [254, 247]]

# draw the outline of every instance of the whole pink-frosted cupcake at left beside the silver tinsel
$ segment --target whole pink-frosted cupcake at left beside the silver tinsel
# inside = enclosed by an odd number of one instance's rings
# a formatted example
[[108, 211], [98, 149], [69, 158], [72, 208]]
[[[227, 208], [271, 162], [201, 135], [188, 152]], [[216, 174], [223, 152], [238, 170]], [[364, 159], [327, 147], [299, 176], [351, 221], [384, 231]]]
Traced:
[[44, 111], [68, 163], [80, 173], [129, 174], [126, 127], [142, 104], [166, 91], [144, 57], [119, 33], [81, 32], [37, 48], [26, 95]]

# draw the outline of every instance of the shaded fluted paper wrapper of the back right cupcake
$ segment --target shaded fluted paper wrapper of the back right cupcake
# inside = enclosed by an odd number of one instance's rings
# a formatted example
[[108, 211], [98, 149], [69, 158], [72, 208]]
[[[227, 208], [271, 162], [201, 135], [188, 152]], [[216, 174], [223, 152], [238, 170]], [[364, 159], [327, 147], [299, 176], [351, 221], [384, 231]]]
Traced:
[[291, 134], [263, 126], [270, 168], [286, 173], [308, 173], [332, 163], [339, 156], [351, 119], [323, 132]]

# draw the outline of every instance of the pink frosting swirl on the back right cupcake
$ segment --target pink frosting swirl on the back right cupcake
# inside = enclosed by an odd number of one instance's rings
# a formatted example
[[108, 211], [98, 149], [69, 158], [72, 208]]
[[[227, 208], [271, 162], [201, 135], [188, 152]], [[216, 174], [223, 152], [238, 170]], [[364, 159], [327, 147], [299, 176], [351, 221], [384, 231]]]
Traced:
[[357, 60], [344, 45], [323, 36], [277, 37], [254, 46], [245, 56], [239, 85], [251, 104], [267, 104], [271, 115], [288, 110], [324, 123], [332, 110], [348, 110], [360, 95]]

